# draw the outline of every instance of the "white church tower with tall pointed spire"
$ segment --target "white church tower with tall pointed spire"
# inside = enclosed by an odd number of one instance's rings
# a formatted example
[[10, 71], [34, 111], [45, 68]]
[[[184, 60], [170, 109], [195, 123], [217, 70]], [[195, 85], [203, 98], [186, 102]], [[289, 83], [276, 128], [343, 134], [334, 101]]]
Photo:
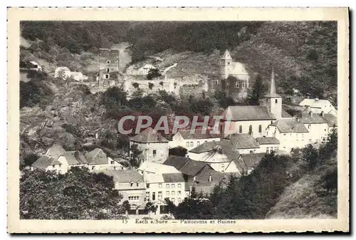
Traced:
[[269, 93], [264, 95], [268, 110], [276, 116], [277, 120], [282, 118], [282, 97], [276, 93], [276, 83], [274, 80], [274, 71], [272, 68], [271, 86]]

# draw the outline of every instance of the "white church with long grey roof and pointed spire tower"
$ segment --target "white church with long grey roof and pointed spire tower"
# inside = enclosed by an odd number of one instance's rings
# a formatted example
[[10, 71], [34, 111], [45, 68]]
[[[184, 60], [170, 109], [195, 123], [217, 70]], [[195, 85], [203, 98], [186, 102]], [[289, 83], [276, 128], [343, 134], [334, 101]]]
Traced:
[[276, 93], [274, 72], [271, 75], [269, 92], [260, 105], [229, 106], [223, 113], [221, 126], [224, 135], [248, 133], [253, 137], [266, 136], [266, 129], [276, 120], [292, 118], [282, 110], [282, 97]]

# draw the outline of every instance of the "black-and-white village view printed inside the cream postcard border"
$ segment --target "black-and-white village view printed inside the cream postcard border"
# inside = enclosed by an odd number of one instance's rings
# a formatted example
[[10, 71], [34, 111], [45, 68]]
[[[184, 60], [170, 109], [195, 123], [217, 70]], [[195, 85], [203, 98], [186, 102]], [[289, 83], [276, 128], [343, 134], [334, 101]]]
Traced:
[[336, 221], [337, 24], [19, 21], [19, 220]]

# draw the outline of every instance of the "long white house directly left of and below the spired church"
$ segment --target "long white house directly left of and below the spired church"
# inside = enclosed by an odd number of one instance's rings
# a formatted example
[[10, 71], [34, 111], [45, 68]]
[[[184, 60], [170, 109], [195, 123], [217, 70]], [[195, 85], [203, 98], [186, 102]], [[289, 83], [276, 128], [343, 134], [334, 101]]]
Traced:
[[169, 147], [184, 147], [187, 150], [192, 150], [194, 147], [198, 147], [204, 142], [219, 141], [220, 135], [210, 134], [209, 130], [202, 133], [201, 129], [194, 130], [194, 133], [190, 133], [190, 130], [179, 130], [172, 137], [172, 141], [169, 141]]

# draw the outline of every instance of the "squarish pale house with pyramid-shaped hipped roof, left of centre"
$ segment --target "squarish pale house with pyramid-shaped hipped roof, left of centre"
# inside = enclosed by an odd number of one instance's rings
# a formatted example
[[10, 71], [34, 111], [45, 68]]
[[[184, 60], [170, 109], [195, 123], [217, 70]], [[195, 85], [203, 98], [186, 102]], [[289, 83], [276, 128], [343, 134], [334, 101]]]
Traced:
[[132, 145], [142, 151], [144, 162], [162, 163], [168, 157], [168, 140], [152, 127], [148, 127], [140, 134], [130, 137], [130, 148]]

